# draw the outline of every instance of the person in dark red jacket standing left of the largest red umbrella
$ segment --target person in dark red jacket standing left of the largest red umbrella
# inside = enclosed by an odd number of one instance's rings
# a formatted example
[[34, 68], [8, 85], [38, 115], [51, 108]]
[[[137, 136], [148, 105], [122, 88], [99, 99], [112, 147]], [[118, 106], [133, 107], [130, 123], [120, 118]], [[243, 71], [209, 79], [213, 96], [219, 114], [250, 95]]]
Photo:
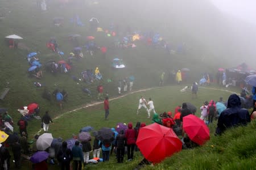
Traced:
[[136, 143], [136, 131], [133, 129], [133, 124], [128, 124], [128, 129], [125, 132], [125, 138], [127, 139], [127, 160], [133, 160], [133, 152]]

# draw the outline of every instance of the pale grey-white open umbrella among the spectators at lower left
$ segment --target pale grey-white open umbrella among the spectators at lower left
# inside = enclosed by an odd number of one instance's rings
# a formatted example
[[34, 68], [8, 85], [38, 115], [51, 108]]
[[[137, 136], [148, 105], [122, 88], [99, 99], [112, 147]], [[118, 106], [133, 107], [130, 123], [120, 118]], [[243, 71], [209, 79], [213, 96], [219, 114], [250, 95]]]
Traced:
[[53, 137], [51, 133], [43, 133], [36, 141], [36, 148], [38, 148], [39, 151], [44, 151], [51, 146], [52, 141]]

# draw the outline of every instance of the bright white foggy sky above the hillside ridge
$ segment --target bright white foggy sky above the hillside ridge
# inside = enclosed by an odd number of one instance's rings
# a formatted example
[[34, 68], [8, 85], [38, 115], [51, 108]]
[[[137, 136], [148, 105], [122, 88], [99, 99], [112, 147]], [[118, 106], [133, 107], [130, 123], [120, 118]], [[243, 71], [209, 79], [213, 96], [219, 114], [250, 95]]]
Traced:
[[221, 11], [256, 24], [255, 0], [211, 0]]

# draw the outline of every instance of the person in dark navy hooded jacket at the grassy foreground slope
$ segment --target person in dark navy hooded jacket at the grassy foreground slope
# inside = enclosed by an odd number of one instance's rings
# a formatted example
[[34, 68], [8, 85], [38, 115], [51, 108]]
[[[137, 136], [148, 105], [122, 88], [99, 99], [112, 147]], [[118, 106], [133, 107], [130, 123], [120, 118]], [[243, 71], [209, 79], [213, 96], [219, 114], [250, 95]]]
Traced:
[[247, 125], [250, 122], [250, 114], [247, 109], [241, 108], [240, 97], [232, 94], [228, 99], [228, 107], [220, 114], [215, 131], [216, 135], [221, 135], [226, 129], [233, 126]]

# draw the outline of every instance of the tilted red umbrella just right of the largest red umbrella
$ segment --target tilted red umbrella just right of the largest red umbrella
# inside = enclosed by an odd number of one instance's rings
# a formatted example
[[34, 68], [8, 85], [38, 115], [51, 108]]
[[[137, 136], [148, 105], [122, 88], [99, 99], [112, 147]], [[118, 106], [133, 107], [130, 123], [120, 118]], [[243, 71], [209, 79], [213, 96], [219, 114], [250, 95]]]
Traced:
[[183, 129], [191, 141], [203, 145], [210, 139], [210, 130], [204, 121], [193, 114], [183, 117]]

